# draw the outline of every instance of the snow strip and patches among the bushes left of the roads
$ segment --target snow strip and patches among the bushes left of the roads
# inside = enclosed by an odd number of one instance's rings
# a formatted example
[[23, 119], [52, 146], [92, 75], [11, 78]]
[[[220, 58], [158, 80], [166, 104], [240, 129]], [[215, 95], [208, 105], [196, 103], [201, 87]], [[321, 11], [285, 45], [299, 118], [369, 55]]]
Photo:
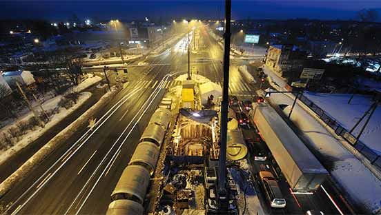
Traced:
[[[8, 150], [1, 150], [0, 163], [3, 163], [10, 156], [15, 154], [19, 150], [23, 149], [23, 147], [26, 147], [26, 145], [38, 139], [40, 136], [43, 135], [44, 132], [49, 130], [51, 127], [57, 125], [57, 123], [59, 123], [59, 121], [64, 119], [66, 116], [68, 116], [68, 114], [77, 110], [77, 108], [80, 107], [84, 102], [86, 102], [90, 98], [90, 96], [91, 96], [90, 92], [81, 92], [79, 99], [75, 105], [70, 107], [68, 110], [66, 110], [63, 107], [59, 108], [59, 112], [57, 114], [50, 116], [51, 121], [46, 123], [45, 127], [39, 127], [37, 130], [30, 131], [27, 134], [24, 134], [23, 136], [20, 137], [20, 141], [18, 141], [17, 143], [14, 143], [14, 146], [10, 147]], [[44, 110], [50, 110], [57, 107], [57, 104], [59, 103], [60, 99], [61, 99], [61, 96], [56, 96], [54, 99], [50, 99], [50, 101], [48, 101], [47, 103], [43, 103]], [[32, 113], [27, 114], [26, 116], [24, 116], [22, 120], [26, 120], [30, 118], [31, 116], [32, 116]], [[5, 129], [9, 127], [10, 125], [3, 127], [3, 129], [1, 129], [0, 132], [4, 132]]]

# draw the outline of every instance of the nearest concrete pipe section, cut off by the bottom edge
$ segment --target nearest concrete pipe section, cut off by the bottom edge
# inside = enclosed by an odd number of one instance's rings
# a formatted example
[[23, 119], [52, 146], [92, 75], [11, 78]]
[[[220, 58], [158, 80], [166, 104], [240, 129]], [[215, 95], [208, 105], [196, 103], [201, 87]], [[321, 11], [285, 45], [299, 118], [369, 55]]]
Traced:
[[139, 203], [127, 199], [118, 199], [108, 205], [106, 215], [140, 215], [144, 208]]

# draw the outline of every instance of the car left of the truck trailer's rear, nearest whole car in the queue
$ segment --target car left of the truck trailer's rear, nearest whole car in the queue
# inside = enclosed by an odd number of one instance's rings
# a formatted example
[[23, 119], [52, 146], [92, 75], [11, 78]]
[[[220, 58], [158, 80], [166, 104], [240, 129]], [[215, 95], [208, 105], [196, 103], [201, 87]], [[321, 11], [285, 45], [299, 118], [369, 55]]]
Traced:
[[270, 206], [277, 208], [286, 207], [286, 200], [284, 199], [273, 174], [268, 171], [260, 171], [259, 174], [264, 191], [266, 192], [266, 198], [270, 202]]

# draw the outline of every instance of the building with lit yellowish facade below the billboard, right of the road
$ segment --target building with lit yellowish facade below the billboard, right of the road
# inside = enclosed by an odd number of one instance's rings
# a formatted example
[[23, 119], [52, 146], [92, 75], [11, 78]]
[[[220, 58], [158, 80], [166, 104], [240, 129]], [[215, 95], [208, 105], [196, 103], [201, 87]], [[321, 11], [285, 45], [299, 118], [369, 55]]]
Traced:
[[270, 45], [266, 65], [275, 74], [291, 82], [300, 76], [306, 57], [306, 52], [295, 45]]

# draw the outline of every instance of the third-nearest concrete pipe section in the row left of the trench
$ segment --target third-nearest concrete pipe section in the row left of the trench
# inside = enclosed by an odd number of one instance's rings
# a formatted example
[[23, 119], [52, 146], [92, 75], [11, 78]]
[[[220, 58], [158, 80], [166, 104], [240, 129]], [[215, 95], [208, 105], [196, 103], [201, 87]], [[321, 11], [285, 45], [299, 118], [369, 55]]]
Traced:
[[155, 172], [157, 158], [159, 158], [159, 147], [154, 143], [141, 142], [137, 145], [128, 165], [144, 166], [152, 176], [153, 172]]

